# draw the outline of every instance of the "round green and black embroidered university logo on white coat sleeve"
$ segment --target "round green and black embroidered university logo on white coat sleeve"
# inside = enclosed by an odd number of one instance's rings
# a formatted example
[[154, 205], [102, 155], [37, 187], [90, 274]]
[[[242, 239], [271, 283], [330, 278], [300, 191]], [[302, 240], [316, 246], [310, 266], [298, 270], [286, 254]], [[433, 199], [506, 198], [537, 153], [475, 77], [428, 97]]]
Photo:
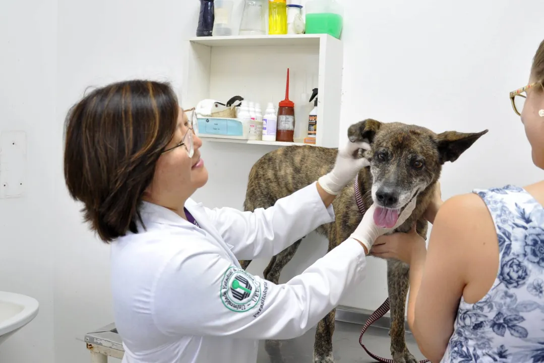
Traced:
[[244, 269], [229, 267], [221, 281], [221, 301], [227, 309], [244, 312], [261, 300], [261, 284]]

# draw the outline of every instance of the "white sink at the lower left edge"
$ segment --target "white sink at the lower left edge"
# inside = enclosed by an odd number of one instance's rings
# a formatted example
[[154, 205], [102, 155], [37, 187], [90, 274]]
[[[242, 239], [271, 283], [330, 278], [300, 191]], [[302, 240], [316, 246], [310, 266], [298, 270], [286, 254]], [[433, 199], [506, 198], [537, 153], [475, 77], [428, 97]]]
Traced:
[[38, 315], [34, 298], [0, 291], [0, 344]]

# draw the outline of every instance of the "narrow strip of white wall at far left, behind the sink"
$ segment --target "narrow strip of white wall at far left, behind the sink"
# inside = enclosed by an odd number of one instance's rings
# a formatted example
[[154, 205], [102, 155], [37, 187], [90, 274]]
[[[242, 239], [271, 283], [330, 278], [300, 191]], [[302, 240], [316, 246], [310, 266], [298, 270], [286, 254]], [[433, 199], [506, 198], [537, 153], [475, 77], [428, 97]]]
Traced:
[[[38, 316], [0, 345], [2, 363], [53, 363], [53, 249], [58, 240], [52, 174], [57, 2], [2, 2], [0, 133], [26, 133], [23, 195], [0, 199], [0, 291], [32, 296]], [[0, 162], [5, 159], [0, 150]], [[0, 168], [3, 169], [3, 168]], [[4, 172], [3, 177], [10, 174]]]

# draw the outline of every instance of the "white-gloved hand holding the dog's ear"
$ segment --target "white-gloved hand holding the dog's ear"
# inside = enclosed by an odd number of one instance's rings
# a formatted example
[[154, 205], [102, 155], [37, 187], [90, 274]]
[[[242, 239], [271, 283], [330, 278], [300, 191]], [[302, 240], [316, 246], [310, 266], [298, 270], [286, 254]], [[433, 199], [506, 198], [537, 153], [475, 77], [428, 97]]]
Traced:
[[335, 166], [329, 174], [318, 179], [319, 185], [325, 192], [338, 195], [347, 184], [355, 178], [359, 170], [370, 165], [365, 158], [355, 158], [354, 153], [358, 149], [370, 150], [370, 145], [365, 142], [348, 143], [339, 147]]

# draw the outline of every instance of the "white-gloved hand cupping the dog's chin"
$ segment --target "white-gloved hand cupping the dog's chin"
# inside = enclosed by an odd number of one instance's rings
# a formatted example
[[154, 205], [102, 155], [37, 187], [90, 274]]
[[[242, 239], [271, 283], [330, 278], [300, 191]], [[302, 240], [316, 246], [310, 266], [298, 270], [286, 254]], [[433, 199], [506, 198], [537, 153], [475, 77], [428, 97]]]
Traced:
[[416, 200], [417, 197], [413, 198], [404, 208], [404, 211], [400, 213], [399, 219], [397, 220], [397, 223], [392, 228], [384, 228], [384, 227], [378, 227], [376, 223], [374, 222], [374, 211], [376, 210], [376, 205], [373, 204], [368, 208], [368, 211], [364, 213], [363, 219], [361, 220], [361, 223], [357, 226], [355, 231], [351, 233], [351, 236], [349, 238], [354, 238], [357, 241], [361, 242], [364, 247], [367, 248], [367, 251], [370, 251], [370, 248], [372, 248], [372, 245], [376, 241], [376, 238], [380, 237], [381, 235], [385, 235], [387, 232], [393, 231], [395, 228], [403, 224], [408, 217], [410, 217], [410, 214], [412, 214], [413, 209], [416, 207]]

